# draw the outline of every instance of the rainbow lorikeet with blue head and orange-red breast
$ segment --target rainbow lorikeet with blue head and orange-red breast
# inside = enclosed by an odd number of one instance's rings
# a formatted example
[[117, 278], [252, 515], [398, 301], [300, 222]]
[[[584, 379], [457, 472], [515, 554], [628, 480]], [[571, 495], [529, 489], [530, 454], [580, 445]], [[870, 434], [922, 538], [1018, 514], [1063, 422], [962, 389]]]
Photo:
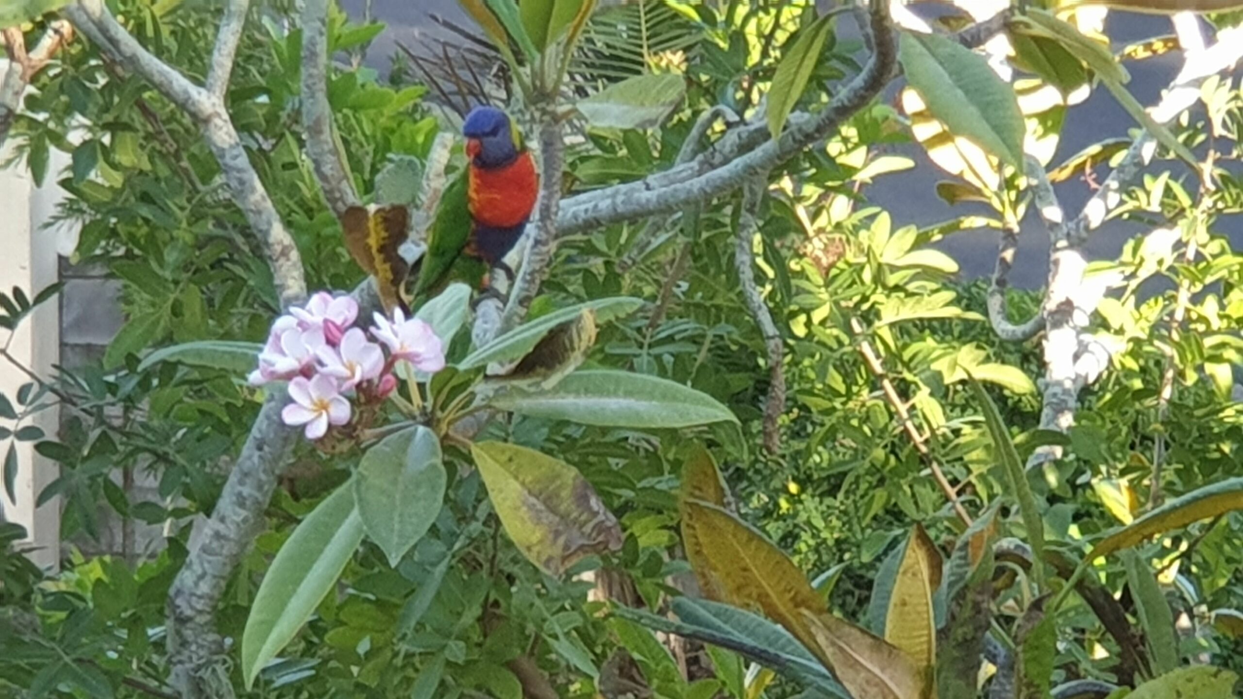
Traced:
[[470, 163], [445, 188], [428, 231], [428, 249], [411, 272], [414, 305], [451, 281], [488, 290], [492, 267], [513, 275], [503, 259], [526, 229], [539, 175], [522, 134], [496, 107], [475, 107], [462, 124]]

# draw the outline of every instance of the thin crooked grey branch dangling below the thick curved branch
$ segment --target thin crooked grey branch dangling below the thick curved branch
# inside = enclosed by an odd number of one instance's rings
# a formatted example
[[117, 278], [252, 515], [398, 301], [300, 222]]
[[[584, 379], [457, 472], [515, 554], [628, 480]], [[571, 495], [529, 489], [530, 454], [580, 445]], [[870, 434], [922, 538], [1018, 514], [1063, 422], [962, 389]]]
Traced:
[[772, 312], [764, 303], [759, 287], [756, 286], [755, 264], [752, 252], [756, 234], [759, 224], [756, 216], [759, 213], [759, 204], [763, 201], [764, 189], [768, 183], [767, 173], [755, 182], [743, 187], [742, 209], [738, 214], [738, 234], [733, 246], [733, 266], [738, 272], [738, 285], [742, 287], [742, 297], [747, 302], [751, 317], [759, 326], [759, 332], [764, 338], [764, 348], [768, 358], [768, 396], [764, 398], [764, 449], [769, 454], [781, 451], [781, 420], [786, 412], [786, 346], [777, 323], [773, 322]]

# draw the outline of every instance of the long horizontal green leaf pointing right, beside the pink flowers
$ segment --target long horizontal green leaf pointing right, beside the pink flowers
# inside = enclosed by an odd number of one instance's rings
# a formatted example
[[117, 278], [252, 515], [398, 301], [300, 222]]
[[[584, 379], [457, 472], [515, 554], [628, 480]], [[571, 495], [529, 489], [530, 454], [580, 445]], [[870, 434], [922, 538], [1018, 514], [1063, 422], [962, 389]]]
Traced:
[[715, 398], [669, 379], [617, 369], [577, 371], [544, 391], [490, 399], [523, 415], [634, 429], [682, 428], [738, 419]]

